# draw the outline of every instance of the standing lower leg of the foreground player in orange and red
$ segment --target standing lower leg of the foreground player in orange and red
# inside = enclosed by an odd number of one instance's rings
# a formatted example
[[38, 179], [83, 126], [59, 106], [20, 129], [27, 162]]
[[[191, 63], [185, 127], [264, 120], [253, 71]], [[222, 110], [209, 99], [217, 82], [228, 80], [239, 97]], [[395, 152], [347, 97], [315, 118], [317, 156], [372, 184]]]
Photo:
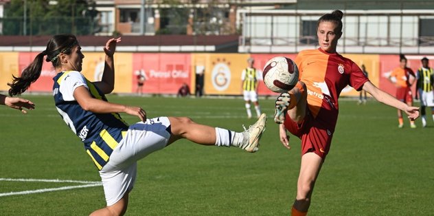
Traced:
[[309, 152], [301, 157], [300, 173], [297, 182], [297, 197], [294, 208], [307, 212], [310, 206], [315, 181], [323, 164], [323, 159], [319, 155]]

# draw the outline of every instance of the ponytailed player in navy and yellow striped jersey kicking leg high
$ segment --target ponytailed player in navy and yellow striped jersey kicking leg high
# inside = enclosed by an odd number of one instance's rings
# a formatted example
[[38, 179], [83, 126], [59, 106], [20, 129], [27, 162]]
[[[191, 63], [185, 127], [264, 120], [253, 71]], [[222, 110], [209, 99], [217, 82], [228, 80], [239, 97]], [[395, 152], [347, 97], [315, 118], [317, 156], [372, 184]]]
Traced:
[[[106, 207], [91, 215], [123, 215], [128, 206], [128, 193], [135, 183], [137, 160], [176, 140], [186, 138], [198, 144], [233, 146], [255, 152], [265, 129], [265, 114], [246, 131], [236, 133], [199, 125], [186, 117], [146, 119], [146, 111], [141, 107], [108, 102], [104, 94], [114, 88], [113, 54], [120, 41], [120, 38], [109, 39], [104, 46], [104, 74], [99, 82], [91, 83], [80, 74], [84, 58], [80, 44], [76, 36], [62, 34], [50, 39], [46, 50], [10, 84], [11, 95], [25, 91], [41, 74], [44, 56], [56, 69], [53, 94], [58, 113], [84, 142], [104, 187]], [[141, 121], [128, 127], [119, 112], [137, 116]]]

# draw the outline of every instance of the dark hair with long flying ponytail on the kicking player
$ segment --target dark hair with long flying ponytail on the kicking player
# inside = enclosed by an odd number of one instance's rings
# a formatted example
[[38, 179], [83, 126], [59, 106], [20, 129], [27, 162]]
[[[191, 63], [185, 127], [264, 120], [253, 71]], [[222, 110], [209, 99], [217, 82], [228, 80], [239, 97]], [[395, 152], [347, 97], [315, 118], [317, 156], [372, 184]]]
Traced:
[[78, 45], [78, 42], [76, 36], [72, 34], [58, 34], [49, 39], [45, 50], [38, 54], [30, 65], [25, 67], [21, 73], [21, 77], [12, 76], [12, 83], [8, 83], [10, 86], [9, 95], [16, 96], [22, 94], [30, 87], [30, 84], [34, 83], [41, 76], [45, 55], [47, 56], [45, 61], [52, 62], [54, 68], [59, 67], [60, 61], [58, 56], [61, 53], [71, 54], [71, 48], [74, 45]]

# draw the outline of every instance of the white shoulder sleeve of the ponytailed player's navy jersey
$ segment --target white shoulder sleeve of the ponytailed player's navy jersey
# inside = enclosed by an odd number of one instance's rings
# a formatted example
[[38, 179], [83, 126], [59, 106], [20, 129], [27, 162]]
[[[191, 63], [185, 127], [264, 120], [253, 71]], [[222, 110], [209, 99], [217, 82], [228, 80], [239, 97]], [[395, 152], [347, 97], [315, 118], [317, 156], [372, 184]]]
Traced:
[[60, 93], [62, 93], [63, 100], [65, 101], [74, 101], [73, 93], [77, 87], [84, 86], [87, 89], [89, 87], [86, 83], [86, 78], [84, 78], [83, 74], [80, 72], [69, 72], [64, 78], [62, 78], [59, 87]]

